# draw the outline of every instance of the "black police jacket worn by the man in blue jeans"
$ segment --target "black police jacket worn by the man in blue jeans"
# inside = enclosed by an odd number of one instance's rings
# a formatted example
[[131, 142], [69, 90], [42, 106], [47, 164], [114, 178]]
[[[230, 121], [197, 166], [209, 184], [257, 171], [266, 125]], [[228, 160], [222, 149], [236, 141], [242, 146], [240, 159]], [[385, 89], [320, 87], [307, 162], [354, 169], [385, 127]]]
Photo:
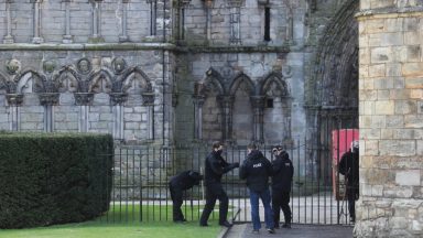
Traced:
[[239, 171], [241, 180], [247, 180], [247, 186], [253, 192], [260, 193], [269, 188], [269, 176], [272, 175], [272, 165], [264, 155], [253, 150], [248, 154]]

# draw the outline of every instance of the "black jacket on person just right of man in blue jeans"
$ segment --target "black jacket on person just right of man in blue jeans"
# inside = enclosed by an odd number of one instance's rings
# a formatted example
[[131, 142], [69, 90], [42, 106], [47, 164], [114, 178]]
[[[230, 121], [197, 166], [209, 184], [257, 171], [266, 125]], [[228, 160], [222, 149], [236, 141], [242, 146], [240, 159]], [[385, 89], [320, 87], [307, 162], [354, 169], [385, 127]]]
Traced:
[[272, 161], [273, 176], [272, 190], [291, 192], [292, 177], [294, 175], [294, 166], [286, 152], [276, 155]]

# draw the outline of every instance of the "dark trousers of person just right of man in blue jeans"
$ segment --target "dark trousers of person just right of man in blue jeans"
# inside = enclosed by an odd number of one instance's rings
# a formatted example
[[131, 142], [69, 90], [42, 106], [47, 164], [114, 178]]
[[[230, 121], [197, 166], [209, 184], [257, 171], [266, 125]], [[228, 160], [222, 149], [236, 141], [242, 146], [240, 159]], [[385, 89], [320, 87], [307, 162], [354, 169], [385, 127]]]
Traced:
[[282, 208], [285, 224], [291, 224], [291, 207], [290, 207], [290, 192], [280, 190], [272, 190], [272, 207], [273, 207], [273, 221], [279, 226], [280, 212]]

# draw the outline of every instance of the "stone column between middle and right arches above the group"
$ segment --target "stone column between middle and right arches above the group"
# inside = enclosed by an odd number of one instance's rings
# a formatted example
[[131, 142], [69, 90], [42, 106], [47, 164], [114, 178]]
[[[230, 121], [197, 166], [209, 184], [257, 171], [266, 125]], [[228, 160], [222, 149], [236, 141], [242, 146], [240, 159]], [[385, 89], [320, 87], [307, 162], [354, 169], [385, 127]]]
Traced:
[[263, 143], [264, 142], [264, 96], [251, 96], [250, 97], [251, 107], [253, 111], [253, 138], [254, 142]]

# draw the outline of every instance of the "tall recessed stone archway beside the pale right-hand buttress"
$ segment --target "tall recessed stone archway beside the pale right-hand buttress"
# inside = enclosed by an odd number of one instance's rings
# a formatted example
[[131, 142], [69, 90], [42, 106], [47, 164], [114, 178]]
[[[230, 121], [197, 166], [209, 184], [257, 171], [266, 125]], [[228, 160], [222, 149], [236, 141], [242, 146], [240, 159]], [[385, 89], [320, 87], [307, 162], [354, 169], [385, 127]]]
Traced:
[[312, 73], [308, 100], [316, 106], [310, 110], [313, 143], [316, 154], [316, 175], [330, 181], [332, 131], [358, 128], [358, 22], [355, 14], [359, 1], [347, 0], [327, 24], [321, 39]]

